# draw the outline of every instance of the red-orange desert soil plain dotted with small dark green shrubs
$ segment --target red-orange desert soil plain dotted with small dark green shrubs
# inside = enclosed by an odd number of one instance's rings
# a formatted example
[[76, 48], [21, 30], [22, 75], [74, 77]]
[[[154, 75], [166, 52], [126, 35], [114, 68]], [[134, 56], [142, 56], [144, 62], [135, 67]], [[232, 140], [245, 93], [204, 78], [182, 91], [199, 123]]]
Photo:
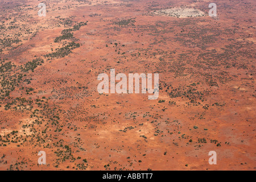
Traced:
[[[218, 1], [218, 18], [210, 1], [38, 3], [0, 3], [1, 170], [255, 170], [255, 1]], [[205, 16], [152, 13], [172, 7]], [[159, 73], [159, 98], [99, 94], [111, 68]]]

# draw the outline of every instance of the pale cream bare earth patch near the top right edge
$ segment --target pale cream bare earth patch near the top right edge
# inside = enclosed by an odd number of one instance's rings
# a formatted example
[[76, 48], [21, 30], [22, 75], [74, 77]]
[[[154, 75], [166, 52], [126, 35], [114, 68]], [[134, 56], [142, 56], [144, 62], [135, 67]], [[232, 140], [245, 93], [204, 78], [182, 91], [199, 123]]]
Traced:
[[181, 7], [155, 11], [154, 14], [158, 16], [174, 16], [177, 18], [205, 16], [203, 11], [193, 9], [193, 8], [181, 8]]

